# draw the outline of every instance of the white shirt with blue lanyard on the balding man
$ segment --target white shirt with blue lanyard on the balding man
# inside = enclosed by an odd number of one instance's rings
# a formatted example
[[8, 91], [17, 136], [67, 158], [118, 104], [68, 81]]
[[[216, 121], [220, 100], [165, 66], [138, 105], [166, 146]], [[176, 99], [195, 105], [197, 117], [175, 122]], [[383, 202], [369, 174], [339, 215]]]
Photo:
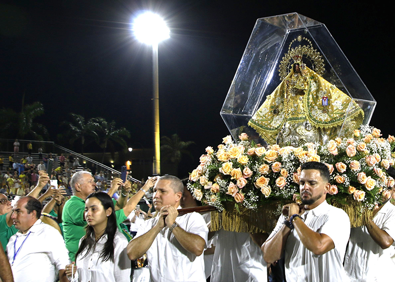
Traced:
[[40, 219], [26, 234], [9, 239], [7, 255], [15, 282], [57, 281], [59, 270], [70, 263], [62, 235]]

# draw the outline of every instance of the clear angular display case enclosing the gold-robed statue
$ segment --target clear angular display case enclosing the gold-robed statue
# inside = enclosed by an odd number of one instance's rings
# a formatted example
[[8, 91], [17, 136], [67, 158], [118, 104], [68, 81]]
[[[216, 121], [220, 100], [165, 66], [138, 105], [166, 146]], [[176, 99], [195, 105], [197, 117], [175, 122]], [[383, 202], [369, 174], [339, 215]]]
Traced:
[[296, 146], [347, 136], [375, 105], [325, 25], [290, 13], [256, 21], [221, 116], [234, 139]]

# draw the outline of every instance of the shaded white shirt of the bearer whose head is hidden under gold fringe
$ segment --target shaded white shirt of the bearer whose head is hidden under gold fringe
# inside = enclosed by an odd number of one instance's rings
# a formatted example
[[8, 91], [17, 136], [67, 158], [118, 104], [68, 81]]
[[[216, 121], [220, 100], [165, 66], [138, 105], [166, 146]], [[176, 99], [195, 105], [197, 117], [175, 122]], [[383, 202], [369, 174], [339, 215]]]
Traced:
[[219, 230], [211, 282], [266, 282], [267, 265], [261, 248], [248, 233]]

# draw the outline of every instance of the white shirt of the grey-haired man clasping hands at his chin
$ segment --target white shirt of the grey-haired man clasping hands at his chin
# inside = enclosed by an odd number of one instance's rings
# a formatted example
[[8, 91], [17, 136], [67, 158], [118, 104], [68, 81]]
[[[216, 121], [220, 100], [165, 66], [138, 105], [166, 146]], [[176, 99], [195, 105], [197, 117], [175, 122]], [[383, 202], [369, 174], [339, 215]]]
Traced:
[[[158, 222], [158, 217], [146, 220], [136, 237], [150, 231]], [[203, 217], [188, 213], [176, 218], [176, 222], [186, 232], [202, 237], [207, 246], [208, 228]], [[205, 246], [205, 247], [206, 247]], [[205, 282], [203, 254], [196, 256], [184, 249], [167, 227], [154, 239], [147, 251], [151, 280], [154, 282]]]

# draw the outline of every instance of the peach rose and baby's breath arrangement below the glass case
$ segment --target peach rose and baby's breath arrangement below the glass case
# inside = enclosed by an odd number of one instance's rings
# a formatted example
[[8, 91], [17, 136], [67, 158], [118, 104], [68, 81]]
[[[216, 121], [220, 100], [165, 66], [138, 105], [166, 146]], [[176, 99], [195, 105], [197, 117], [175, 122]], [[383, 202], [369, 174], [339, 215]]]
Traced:
[[205, 205], [224, 209], [225, 202], [256, 210], [273, 201], [300, 201], [300, 167], [308, 161], [323, 162], [329, 168], [329, 202], [357, 202], [373, 208], [382, 196], [389, 197], [394, 179], [386, 170], [394, 165], [391, 155], [395, 138], [381, 138], [380, 130], [362, 125], [350, 138], [336, 138], [326, 144], [305, 143], [300, 147], [271, 145], [268, 148], [231, 136], [218, 149], [206, 148], [200, 164], [190, 174], [187, 188]]

